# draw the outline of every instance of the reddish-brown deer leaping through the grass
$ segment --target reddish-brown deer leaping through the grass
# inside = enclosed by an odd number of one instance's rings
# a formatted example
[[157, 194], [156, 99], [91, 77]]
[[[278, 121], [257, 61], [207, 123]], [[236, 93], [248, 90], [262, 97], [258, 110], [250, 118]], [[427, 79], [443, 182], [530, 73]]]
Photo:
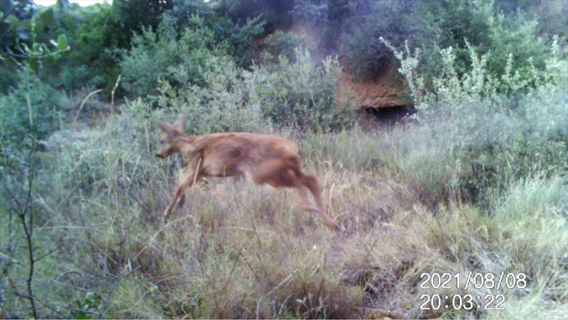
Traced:
[[[173, 125], [153, 119], [162, 131], [161, 159], [182, 153], [187, 165], [180, 175], [172, 199], [164, 210], [168, 219], [176, 202], [185, 203], [186, 189], [203, 177], [249, 177], [255, 184], [268, 184], [275, 188], [294, 188], [300, 199], [300, 207], [314, 211], [323, 219], [324, 226], [339, 231], [335, 223], [323, 211], [322, 190], [317, 178], [302, 171], [300, 153], [290, 140], [275, 135], [227, 132], [190, 136], [183, 133], [185, 118], [180, 116]], [[315, 206], [307, 199], [310, 190]]]

